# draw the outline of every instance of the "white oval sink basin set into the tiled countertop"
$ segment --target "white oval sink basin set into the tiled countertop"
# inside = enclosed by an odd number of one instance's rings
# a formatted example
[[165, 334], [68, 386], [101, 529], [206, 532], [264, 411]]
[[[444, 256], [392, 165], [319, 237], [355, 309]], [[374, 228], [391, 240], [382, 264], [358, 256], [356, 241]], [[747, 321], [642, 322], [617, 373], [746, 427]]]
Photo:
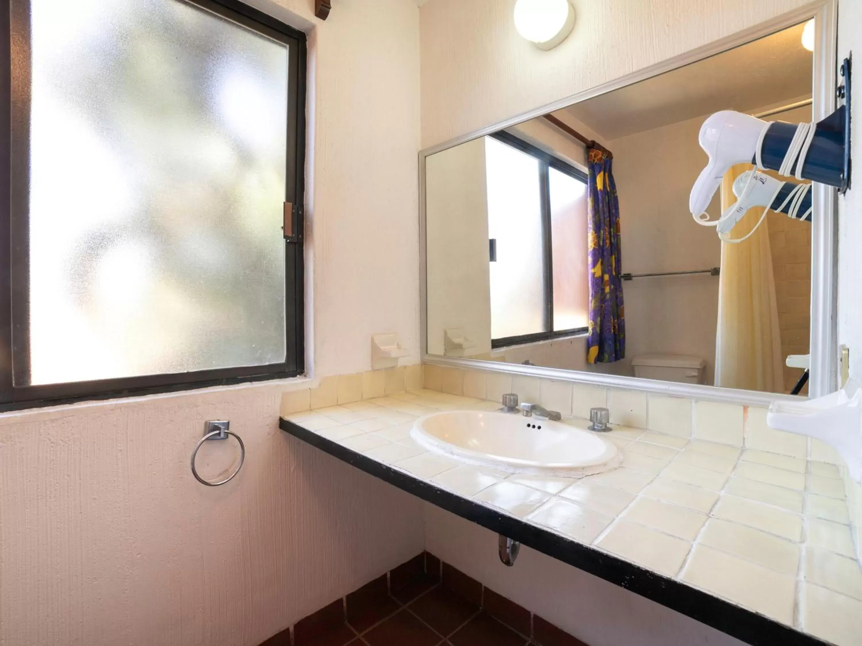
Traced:
[[621, 461], [598, 433], [520, 413], [433, 413], [417, 419], [410, 436], [435, 453], [513, 473], [579, 477]]

